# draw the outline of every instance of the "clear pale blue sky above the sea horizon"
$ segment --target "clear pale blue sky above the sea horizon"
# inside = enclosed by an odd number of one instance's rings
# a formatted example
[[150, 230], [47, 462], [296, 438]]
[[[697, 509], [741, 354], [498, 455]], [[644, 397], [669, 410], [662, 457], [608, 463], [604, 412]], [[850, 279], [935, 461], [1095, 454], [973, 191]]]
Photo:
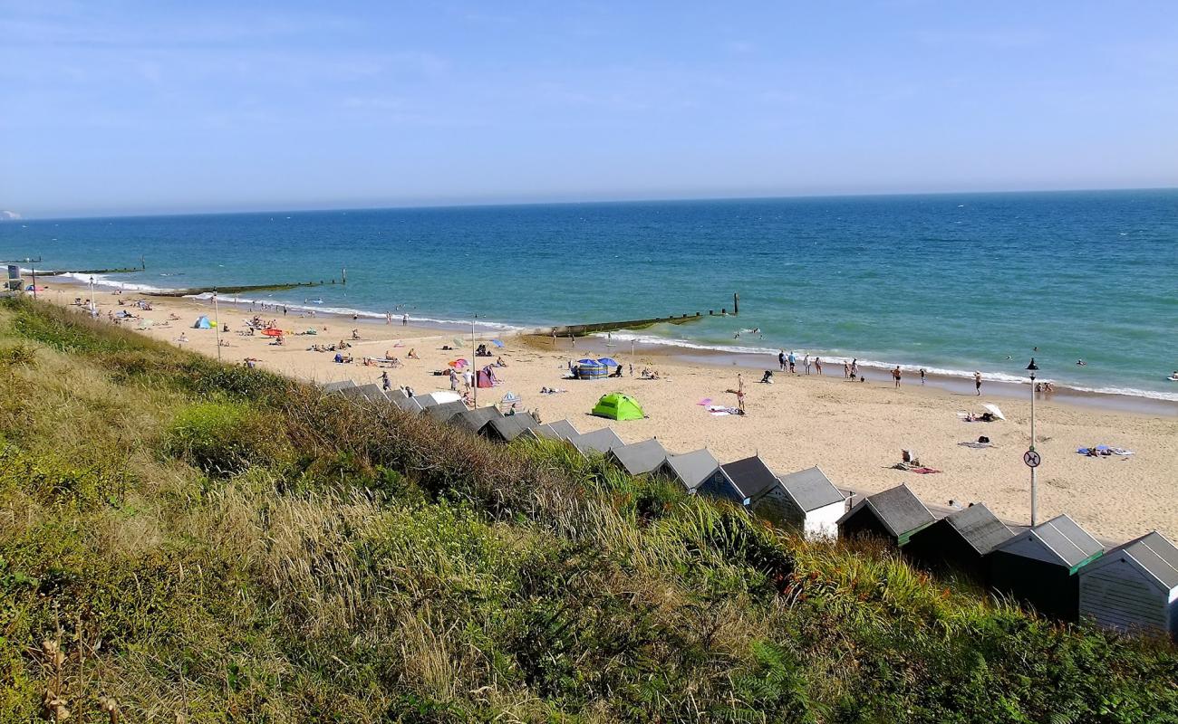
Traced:
[[1178, 2], [0, 0], [27, 217], [1178, 186]]

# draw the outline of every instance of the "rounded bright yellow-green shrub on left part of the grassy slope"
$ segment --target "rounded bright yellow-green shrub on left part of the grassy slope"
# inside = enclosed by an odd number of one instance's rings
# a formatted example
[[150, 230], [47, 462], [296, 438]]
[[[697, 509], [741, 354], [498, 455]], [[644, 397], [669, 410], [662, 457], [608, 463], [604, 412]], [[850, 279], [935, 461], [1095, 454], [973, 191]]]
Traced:
[[199, 403], [180, 411], [167, 430], [164, 453], [214, 477], [251, 465], [284, 467], [290, 443], [277, 419], [239, 403]]

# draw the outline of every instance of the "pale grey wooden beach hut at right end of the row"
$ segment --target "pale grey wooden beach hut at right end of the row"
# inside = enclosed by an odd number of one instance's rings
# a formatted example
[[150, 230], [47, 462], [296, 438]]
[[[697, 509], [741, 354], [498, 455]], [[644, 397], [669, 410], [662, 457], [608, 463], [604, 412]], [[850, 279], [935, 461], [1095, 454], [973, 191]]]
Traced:
[[1120, 631], [1178, 639], [1178, 547], [1153, 531], [1080, 569], [1081, 617]]

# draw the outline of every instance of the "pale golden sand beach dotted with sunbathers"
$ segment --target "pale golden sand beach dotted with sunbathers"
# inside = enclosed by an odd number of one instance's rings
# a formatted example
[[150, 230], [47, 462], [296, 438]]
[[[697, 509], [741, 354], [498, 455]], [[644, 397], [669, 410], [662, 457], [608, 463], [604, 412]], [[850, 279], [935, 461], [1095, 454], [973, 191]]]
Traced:
[[[65, 288], [54, 285], [54, 288]], [[70, 293], [46, 293], [51, 300], [87, 295], [81, 286]], [[207, 303], [192, 299], [151, 298], [151, 312], [130, 306], [133, 295], [108, 292], [97, 294], [99, 313], [105, 319], [111, 310], [128, 310], [155, 323], [166, 321], [170, 313], [180, 317], [168, 327], [153, 327], [146, 334], [172, 344], [183, 333], [186, 348], [217, 356], [213, 330], [194, 330], [199, 314], [212, 317]], [[127, 306], [119, 307], [119, 299]], [[292, 332], [284, 346], [269, 344], [266, 337], [244, 337], [245, 320], [260, 315], [277, 318], [278, 325]], [[379, 383], [382, 370], [364, 366], [364, 356], [383, 357], [385, 351], [399, 357], [403, 366], [389, 370], [393, 386], [409, 385], [415, 392], [449, 390], [444, 377], [431, 374], [456, 357], [470, 357], [470, 332], [462, 352], [443, 351], [459, 332], [402, 326], [340, 318], [300, 318], [280, 311], [247, 312], [230, 305], [219, 311], [223, 334], [230, 346], [223, 358], [240, 364], [252, 357], [258, 367], [315, 383], [352, 379], [358, 384]], [[124, 323], [137, 327], [135, 320]], [[317, 336], [293, 332], [315, 327]], [[326, 330], [324, 330], [326, 327]], [[362, 337], [350, 352], [353, 364], [336, 364], [333, 353], [307, 351], [312, 344], [336, 344]], [[483, 334], [485, 340], [495, 337]], [[561, 379], [568, 361], [580, 354], [562, 339], [556, 347], [548, 339], [509, 338], [507, 347], [496, 350], [508, 364], [497, 368], [503, 384], [478, 391], [479, 405], [497, 403], [510, 390], [523, 396], [523, 406], [538, 409], [543, 421], [568, 418], [585, 432], [607, 425], [628, 443], [657, 437], [674, 452], [707, 446], [721, 460], [729, 461], [760, 453], [773, 470], [787, 473], [813, 465], [826, 472], [835, 485], [875, 492], [907, 483], [928, 505], [946, 505], [953, 499], [962, 504], [984, 502], [1006, 520], [1030, 520], [1030, 470], [1023, 453], [1030, 434], [1030, 400], [987, 399], [971, 394], [921, 387], [919, 380], [906, 377], [900, 390], [891, 381], [852, 383], [842, 379], [842, 368], [827, 368], [825, 377], [792, 376], [777, 372], [775, 384], [757, 384], [760, 374], [744, 371], [748, 414], [713, 417], [697, 405], [712, 398], [716, 405], [735, 405], [735, 396], [726, 390], [736, 387], [734, 367], [686, 364], [670, 357], [651, 357], [640, 351], [638, 359], [626, 353], [614, 354], [623, 364], [633, 361], [635, 374], [642, 367], [657, 368], [663, 379], [637, 377], [604, 381]], [[401, 346], [396, 346], [396, 345]], [[410, 348], [419, 360], [408, 359]], [[482, 360], [484, 358], [479, 358]], [[494, 361], [494, 358], [488, 360]], [[541, 387], [560, 387], [568, 392], [541, 394]], [[605, 392], [626, 392], [640, 400], [644, 420], [616, 423], [588, 414]], [[994, 401], [1006, 414], [1005, 421], [965, 423], [959, 411], [982, 412], [981, 404]], [[1039, 467], [1039, 519], [1067, 513], [1097, 537], [1126, 540], [1158, 530], [1178, 540], [1178, 419], [1160, 416], [1119, 413], [1052, 401], [1035, 403], [1037, 450], [1043, 456]], [[987, 436], [994, 447], [977, 450], [960, 445]], [[1129, 458], [1088, 458], [1077, 454], [1077, 447], [1108, 444], [1134, 451]], [[921, 463], [941, 470], [937, 474], [916, 474], [889, 466], [900, 459], [901, 449], [913, 450]]]

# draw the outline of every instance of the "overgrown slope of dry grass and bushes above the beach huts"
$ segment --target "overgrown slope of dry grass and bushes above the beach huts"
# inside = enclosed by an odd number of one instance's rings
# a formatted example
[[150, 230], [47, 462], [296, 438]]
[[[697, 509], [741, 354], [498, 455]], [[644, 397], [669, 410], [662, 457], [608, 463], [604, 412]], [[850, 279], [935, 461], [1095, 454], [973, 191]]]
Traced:
[[1178, 720], [1164, 643], [561, 446], [28, 303], [0, 380], [0, 722]]

